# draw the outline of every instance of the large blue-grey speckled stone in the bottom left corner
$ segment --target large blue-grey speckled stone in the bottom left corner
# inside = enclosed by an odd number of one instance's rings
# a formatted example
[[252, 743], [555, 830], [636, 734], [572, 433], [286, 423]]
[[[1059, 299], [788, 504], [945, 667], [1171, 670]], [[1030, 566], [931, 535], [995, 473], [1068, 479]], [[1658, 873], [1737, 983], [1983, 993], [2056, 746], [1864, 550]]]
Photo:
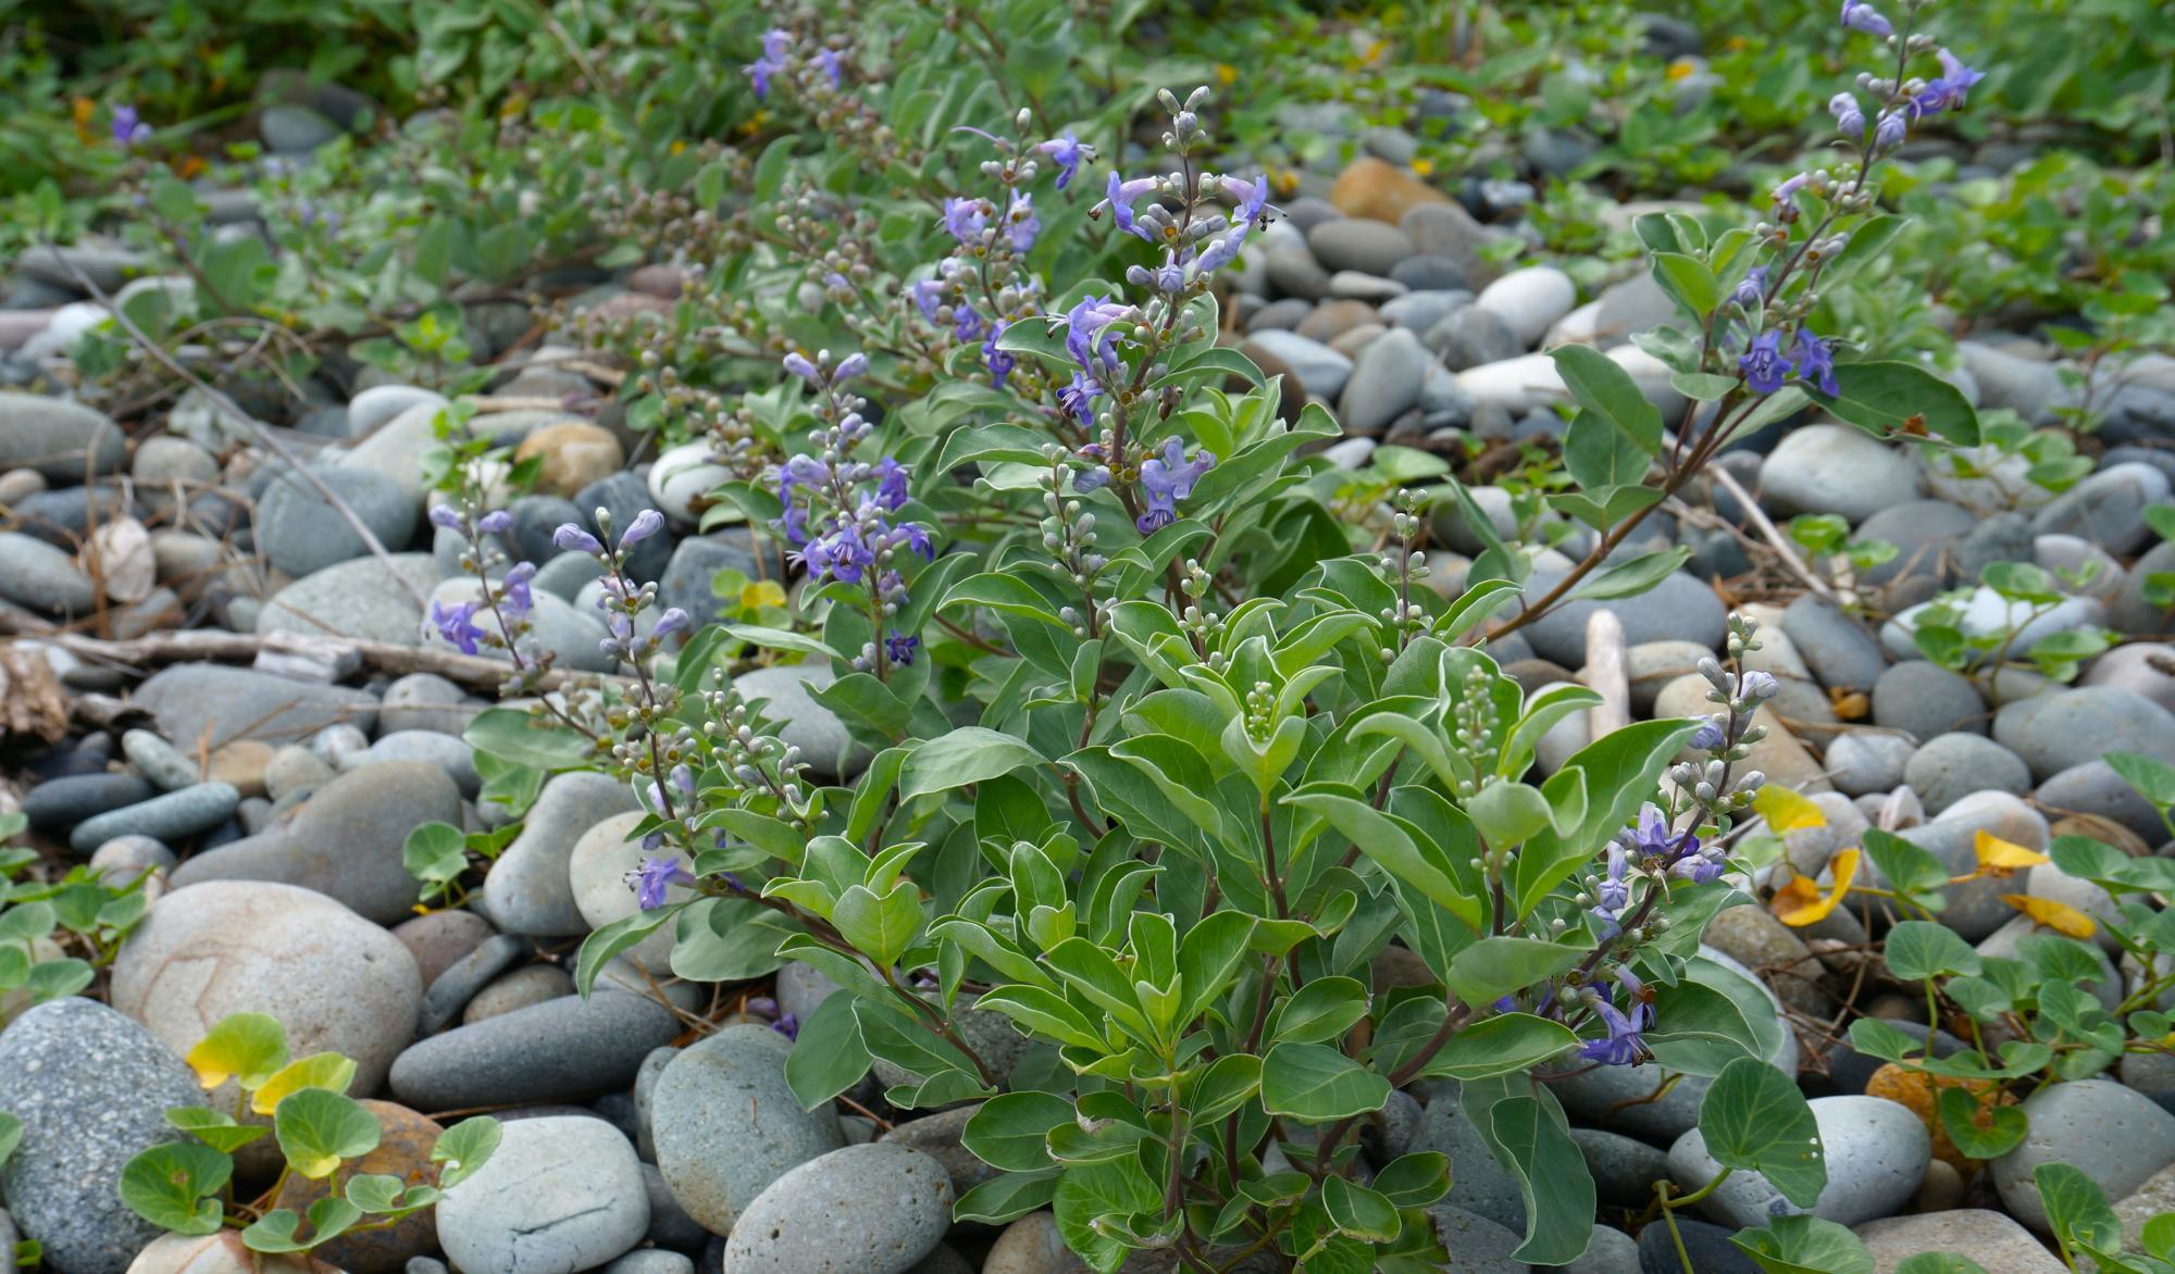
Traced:
[[202, 1100], [189, 1067], [144, 1026], [96, 1000], [52, 1000], [0, 1033], [0, 1111], [22, 1144], [0, 1165], [15, 1226], [46, 1246], [46, 1267], [122, 1274], [159, 1226], [122, 1207], [115, 1185], [139, 1152], [178, 1141], [167, 1107]]

